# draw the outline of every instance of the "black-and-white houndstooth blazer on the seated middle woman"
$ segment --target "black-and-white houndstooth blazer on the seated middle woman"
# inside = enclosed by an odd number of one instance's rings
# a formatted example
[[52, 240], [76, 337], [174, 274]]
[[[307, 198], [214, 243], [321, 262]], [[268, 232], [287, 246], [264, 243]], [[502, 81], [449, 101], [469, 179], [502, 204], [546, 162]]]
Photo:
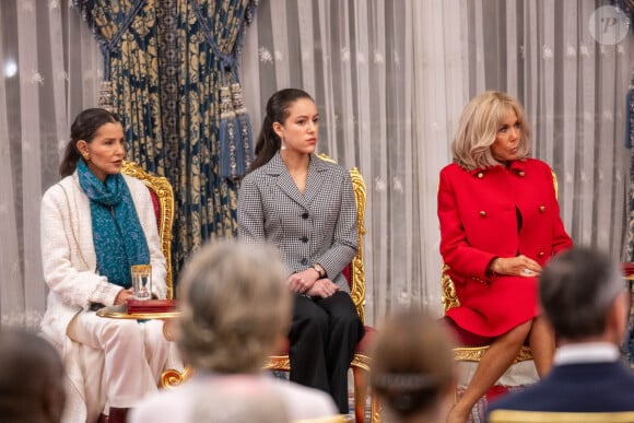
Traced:
[[292, 272], [320, 263], [340, 290], [341, 274], [356, 254], [356, 202], [350, 175], [310, 155], [304, 193], [280, 153], [242, 181], [237, 201], [238, 237], [279, 248]]

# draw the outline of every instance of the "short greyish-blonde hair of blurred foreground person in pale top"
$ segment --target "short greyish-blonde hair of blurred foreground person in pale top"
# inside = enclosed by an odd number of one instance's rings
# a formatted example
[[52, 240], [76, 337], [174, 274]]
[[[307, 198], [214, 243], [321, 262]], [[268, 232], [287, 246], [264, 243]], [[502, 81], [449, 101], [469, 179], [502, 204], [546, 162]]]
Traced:
[[179, 280], [176, 342], [193, 368], [256, 373], [291, 324], [291, 292], [278, 251], [220, 240], [203, 247]]

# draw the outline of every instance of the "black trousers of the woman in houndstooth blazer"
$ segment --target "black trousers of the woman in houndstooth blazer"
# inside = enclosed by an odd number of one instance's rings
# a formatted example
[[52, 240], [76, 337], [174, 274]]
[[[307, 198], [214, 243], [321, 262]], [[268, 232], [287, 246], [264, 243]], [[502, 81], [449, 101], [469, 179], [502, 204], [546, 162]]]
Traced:
[[364, 334], [352, 298], [339, 291], [327, 298], [295, 294], [290, 351], [291, 380], [332, 396], [348, 413], [348, 369]]

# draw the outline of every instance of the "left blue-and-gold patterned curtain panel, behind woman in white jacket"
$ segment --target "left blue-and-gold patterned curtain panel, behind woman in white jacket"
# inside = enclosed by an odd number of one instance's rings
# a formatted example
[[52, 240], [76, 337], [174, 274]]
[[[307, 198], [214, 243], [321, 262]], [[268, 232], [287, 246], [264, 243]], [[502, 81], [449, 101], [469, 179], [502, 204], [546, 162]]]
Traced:
[[165, 175], [154, 0], [74, 0], [104, 54], [113, 111], [124, 122], [128, 158]]

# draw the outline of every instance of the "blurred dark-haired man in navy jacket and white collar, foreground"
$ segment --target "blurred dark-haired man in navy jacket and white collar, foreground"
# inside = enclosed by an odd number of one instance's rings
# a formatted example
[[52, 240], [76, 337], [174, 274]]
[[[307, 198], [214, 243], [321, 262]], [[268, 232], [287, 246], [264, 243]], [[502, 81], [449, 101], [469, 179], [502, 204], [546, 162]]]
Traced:
[[[630, 310], [619, 267], [608, 256], [575, 248], [553, 258], [539, 298], [560, 348], [538, 384], [491, 404], [490, 422], [634, 422], [634, 375], [620, 360]], [[568, 415], [568, 418], [571, 418]]]

